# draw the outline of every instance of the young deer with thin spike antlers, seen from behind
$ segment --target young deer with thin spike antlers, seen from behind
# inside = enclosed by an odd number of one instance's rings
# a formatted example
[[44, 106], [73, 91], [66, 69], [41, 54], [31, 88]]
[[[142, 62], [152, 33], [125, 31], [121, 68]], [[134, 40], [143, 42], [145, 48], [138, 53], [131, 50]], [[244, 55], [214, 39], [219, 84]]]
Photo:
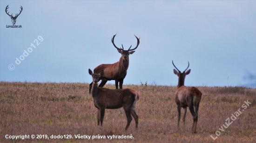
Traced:
[[[172, 61], [173, 63], [173, 61]], [[174, 65], [174, 63], [173, 63]], [[175, 67], [175, 65], [174, 65]], [[175, 67], [176, 68], [176, 67]], [[189, 68], [189, 66], [188, 66]], [[180, 128], [180, 119], [181, 119], [181, 107], [184, 109], [184, 114], [183, 114], [183, 131], [185, 131], [185, 116], [187, 112], [187, 107], [189, 107], [189, 110], [193, 116], [193, 125], [192, 125], [192, 132], [196, 133], [196, 123], [197, 123], [197, 118], [198, 118], [198, 108], [199, 108], [199, 103], [202, 97], [202, 93], [199, 89], [196, 87], [186, 87], [184, 86], [184, 81], [185, 81], [185, 76], [189, 75], [190, 69], [186, 72], [188, 69], [186, 68], [183, 73], [179, 71], [178, 68], [176, 68], [178, 71], [174, 69], [174, 74], [178, 75], [179, 77], [179, 82], [177, 86], [177, 91], [175, 92], [175, 102], [177, 104], [177, 109], [178, 109], [178, 129]], [[195, 110], [194, 110], [195, 107]]]

